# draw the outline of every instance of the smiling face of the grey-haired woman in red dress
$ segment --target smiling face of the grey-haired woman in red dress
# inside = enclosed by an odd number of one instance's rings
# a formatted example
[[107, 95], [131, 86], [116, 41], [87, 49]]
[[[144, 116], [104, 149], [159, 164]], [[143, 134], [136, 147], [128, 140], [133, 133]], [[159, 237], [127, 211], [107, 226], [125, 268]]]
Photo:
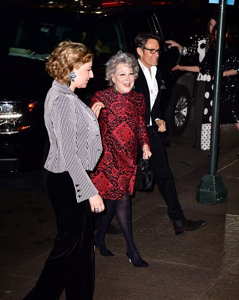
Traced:
[[124, 63], [116, 66], [116, 72], [112, 75], [112, 81], [116, 90], [121, 93], [128, 93], [132, 90], [135, 83], [135, 75], [132, 67], [128, 67]]

